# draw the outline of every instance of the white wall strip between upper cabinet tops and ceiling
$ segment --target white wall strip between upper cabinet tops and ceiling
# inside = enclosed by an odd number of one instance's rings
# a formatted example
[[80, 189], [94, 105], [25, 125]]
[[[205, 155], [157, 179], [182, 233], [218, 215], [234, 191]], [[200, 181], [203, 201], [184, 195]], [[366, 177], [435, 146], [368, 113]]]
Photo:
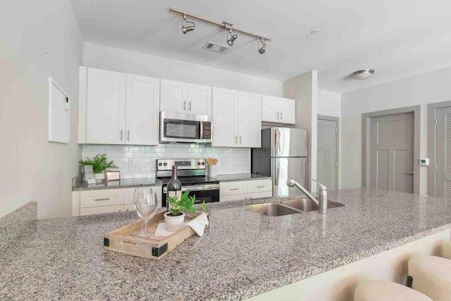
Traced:
[[85, 43], [83, 66], [281, 97], [283, 82]]

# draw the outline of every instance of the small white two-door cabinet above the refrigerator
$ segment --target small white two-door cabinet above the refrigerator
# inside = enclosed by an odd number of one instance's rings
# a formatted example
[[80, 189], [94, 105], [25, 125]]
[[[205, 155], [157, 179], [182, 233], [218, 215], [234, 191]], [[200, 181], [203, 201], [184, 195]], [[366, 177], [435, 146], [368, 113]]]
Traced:
[[262, 95], [261, 121], [295, 124], [295, 99]]

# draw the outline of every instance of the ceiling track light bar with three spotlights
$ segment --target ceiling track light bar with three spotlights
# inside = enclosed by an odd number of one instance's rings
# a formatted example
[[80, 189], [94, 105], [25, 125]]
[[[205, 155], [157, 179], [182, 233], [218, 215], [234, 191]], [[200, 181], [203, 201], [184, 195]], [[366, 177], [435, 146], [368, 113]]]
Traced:
[[[251, 37], [258, 38], [260, 40], [260, 42], [263, 44], [263, 46], [259, 48], [259, 54], [264, 54], [265, 53], [265, 51], [266, 51], [266, 43], [265, 42], [266, 41], [271, 41], [271, 39], [268, 38], [268, 37], [264, 37], [263, 35], [257, 35], [257, 34], [255, 34], [253, 32], [249, 32], [248, 30], [242, 30], [242, 29], [239, 29], [237, 27], [233, 27], [233, 24], [230, 24], [230, 23], [227, 23], [227, 22], [218, 22], [218, 21], [215, 21], [215, 20], [207, 19], [207, 18], [204, 18], [204, 17], [201, 17], [201, 16], [194, 15], [192, 13], [187, 13], [186, 11], [181, 11], [180, 9], [173, 8], [173, 7], [170, 7], [169, 10], [173, 11], [174, 13], [180, 13], [183, 16], [182, 22], [185, 21], [187, 23], [191, 23], [192, 24], [192, 26], [185, 26], [185, 24], [183, 24], [183, 26], [182, 26], [183, 33], [187, 33], [187, 32], [189, 32], [191, 30], [194, 30], [195, 24], [186, 20], [187, 16], [190, 16], [191, 18], [194, 18], [194, 19], [197, 19], [197, 20], [202, 20], [202, 21], [204, 21], [206, 23], [217, 25], [217, 26], [223, 28], [224, 30], [227, 30], [228, 31], [227, 37], [230, 34], [230, 39], [227, 39], [227, 44], [229, 44], [230, 46], [233, 45], [233, 42], [235, 42], [235, 39], [237, 39], [237, 37], [238, 37], [233, 32], [240, 32], [240, 33], [243, 33], [245, 35], [249, 35]], [[233, 32], [232, 32], [232, 30], [233, 30]]]

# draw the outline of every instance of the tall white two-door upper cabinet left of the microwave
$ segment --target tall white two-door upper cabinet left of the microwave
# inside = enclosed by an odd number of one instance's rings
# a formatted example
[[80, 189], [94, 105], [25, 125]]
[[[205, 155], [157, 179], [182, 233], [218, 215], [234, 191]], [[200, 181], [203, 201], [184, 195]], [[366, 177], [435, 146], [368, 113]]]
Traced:
[[158, 78], [80, 67], [79, 143], [157, 145]]

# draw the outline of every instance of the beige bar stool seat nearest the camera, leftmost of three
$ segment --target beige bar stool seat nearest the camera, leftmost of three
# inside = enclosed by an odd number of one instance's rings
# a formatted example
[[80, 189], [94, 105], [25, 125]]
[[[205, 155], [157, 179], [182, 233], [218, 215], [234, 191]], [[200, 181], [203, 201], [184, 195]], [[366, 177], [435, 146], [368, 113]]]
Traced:
[[363, 281], [357, 285], [354, 301], [432, 301], [407, 286], [384, 280]]

